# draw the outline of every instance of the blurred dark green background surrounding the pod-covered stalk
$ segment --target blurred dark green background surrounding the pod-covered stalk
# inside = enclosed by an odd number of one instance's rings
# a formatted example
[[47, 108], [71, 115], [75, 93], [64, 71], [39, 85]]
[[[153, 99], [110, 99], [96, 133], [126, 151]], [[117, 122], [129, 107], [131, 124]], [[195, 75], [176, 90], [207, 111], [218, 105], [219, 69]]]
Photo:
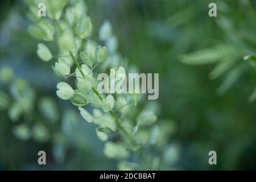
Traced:
[[[171, 151], [171, 159], [167, 163], [160, 160], [156, 169], [256, 169], [256, 105], [253, 99], [248, 100], [256, 74], [243, 60], [256, 52], [256, 1], [85, 2], [93, 22], [92, 38], [97, 40], [98, 28], [110, 20], [118, 51], [129, 63], [141, 72], [159, 73], [158, 122], [171, 126], [168, 145], [177, 148]], [[210, 2], [217, 4], [217, 17], [208, 16]], [[72, 104], [56, 96], [56, 83], [61, 79], [53, 73], [51, 63], [36, 55], [38, 42], [27, 32], [31, 20], [26, 4], [3, 1], [0, 9], [0, 169], [117, 169], [117, 161], [104, 156], [95, 126], [84, 122]], [[180, 61], [184, 54], [220, 44], [226, 51], [232, 48], [227, 59], [243, 67], [239, 76], [233, 74], [236, 79], [231, 75], [227, 81], [234, 65], [211, 80], [209, 73], [216, 64], [192, 66]], [[6, 77], [12, 75], [7, 67], [13, 68], [14, 77], [6, 84]], [[220, 85], [222, 92], [218, 92]], [[24, 103], [35, 104], [28, 109], [30, 114], [15, 120], [15, 111], [11, 114], [5, 109], [5, 98], [6, 94], [15, 95], [19, 86], [31, 93], [24, 96]], [[51, 105], [50, 111], [46, 105]], [[37, 134], [26, 140], [26, 129], [15, 126], [35, 119], [42, 121], [47, 131], [38, 125]], [[37, 163], [39, 150], [47, 153], [46, 166]], [[166, 150], [163, 146], [157, 155], [162, 159], [170, 153]], [[211, 150], [217, 152], [217, 165], [208, 164]]]

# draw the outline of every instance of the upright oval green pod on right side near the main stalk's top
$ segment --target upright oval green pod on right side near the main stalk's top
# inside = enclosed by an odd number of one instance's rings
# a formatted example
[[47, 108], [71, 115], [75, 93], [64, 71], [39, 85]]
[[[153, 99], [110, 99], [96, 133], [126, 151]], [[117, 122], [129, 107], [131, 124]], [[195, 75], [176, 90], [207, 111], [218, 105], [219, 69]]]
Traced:
[[90, 22], [90, 18], [81, 16], [76, 26], [77, 35], [79, 35], [81, 39], [84, 39], [90, 35], [91, 31], [92, 23]]

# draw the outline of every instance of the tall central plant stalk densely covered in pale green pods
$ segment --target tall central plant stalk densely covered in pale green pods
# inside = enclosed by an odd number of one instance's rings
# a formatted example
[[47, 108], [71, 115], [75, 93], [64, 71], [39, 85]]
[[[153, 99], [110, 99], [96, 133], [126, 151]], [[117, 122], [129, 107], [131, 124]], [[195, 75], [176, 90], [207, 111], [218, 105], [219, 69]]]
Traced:
[[167, 144], [172, 130], [171, 125], [156, 123], [154, 111], [158, 110], [158, 104], [147, 102], [141, 94], [105, 96], [96, 89], [97, 73], [108, 73], [110, 68], [116, 72], [134, 72], [134, 67], [129, 67], [127, 59], [117, 52], [118, 39], [110, 22], [106, 20], [100, 27], [101, 46], [98, 46], [89, 39], [93, 26], [84, 1], [40, 2], [46, 3], [46, 17], [37, 16], [39, 1], [27, 1], [29, 16], [34, 20], [28, 32], [44, 41], [38, 44], [38, 56], [43, 61], [54, 61], [53, 71], [65, 80], [56, 85], [57, 96], [69, 100], [87, 122], [98, 126], [97, 136], [105, 142], [104, 154], [118, 159], [119, 169], [158, 169], [160, 160], [163, 164], [165, 160], [175, 164], [179, 153], [176, 145], [167, 148], [163, 159], [156, 154], [148, 155], [149, 149], [157, 151]]

